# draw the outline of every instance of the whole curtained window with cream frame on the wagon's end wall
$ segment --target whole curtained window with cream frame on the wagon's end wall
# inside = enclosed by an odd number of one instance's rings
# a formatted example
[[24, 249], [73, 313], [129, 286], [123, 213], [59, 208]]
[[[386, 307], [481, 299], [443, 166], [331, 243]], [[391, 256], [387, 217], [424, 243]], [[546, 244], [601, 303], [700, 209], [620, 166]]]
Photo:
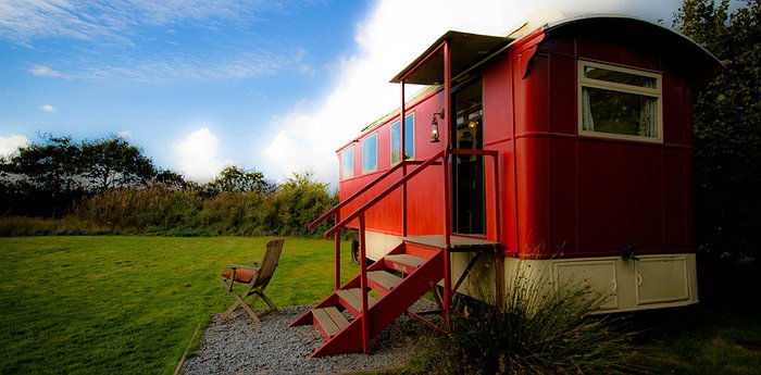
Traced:
[[661, 75], [578, 62], [578, 134], [661, 141]]

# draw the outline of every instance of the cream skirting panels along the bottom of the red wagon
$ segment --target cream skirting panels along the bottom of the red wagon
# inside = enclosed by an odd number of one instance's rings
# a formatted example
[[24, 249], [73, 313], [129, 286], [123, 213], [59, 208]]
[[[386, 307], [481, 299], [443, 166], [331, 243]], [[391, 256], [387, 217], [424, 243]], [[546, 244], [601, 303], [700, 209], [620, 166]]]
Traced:
[[[366, 233], [367, 255], [373, 260], [401, 242], [398, 236]], [[452, 284], [460, 278], [474, 253], [451, 253]], [[588, 280], [591, 287], [608, 293], [609, 299], [601, 313], [684, 307], [698, 302], [698, 277], [694, 253], [640, 255], [638, 260], [620, 257], [572, 258], [548, 260], [519, 260], [504, 258], [504, 287], [510, 287], [519, 264], [529, 266], [529, 277], [539, 283], [558, 282], [566, 277]], [[494, 258], [485, 254], [476, 263], [459, 292], [494, 290]], [[479, 284], [475, 289], [473, 284]], [[442, 285], [442, 283], [439, 283]], [[472, 296], [475, 297], [475, 296]]]

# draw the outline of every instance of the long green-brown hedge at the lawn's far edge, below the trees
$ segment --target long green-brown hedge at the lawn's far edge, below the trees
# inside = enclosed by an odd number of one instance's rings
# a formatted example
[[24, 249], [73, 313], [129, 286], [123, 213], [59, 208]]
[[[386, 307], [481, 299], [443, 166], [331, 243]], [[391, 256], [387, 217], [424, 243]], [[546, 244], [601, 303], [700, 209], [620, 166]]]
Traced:
[[338, 195], [309, 172], [295, 173], [277, 188], [214, 195], [165, 185], [105, 189], [60, 218], [0, 216], [0, 236], [320, 237], [333, 226], [332, 218], [315, 230], [307, 225], [337, 203]]

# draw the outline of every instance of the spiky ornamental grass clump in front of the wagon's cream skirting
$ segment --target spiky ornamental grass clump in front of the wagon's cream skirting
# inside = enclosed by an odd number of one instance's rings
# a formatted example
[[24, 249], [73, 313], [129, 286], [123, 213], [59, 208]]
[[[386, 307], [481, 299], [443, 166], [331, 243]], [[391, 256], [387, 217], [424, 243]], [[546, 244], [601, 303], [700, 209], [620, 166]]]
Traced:
[[[522, 263], [495, 305], [475, 290], [465, 313], [453, 318], [423, 371], [456, 374], [616, 374], [643, 372], [622, 317], [592, 315], [607, 296], [584, 280], [552, 285], [545, 272], [529, 277]], [[490, 301], [486, 303], [483, 301]], [[427, 368], [425, 368], [427, 367]], [[413, 371], [414, 372], [414, 371]]]

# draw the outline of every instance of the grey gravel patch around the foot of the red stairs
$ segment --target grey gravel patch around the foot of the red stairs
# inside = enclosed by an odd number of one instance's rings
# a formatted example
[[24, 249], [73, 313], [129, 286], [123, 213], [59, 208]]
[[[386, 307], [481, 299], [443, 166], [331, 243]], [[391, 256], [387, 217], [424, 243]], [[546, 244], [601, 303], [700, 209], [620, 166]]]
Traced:
[[[429, 308], [415, 307], [415, 310]], [[408, 316], [398, 317], [373, 340], [373, 353], [310, 359], [324, 341], [309, 325], [287, 328], [307, 307], [282, 308], [280, 313], [257, 325], [244, 312], [226, 321], [219, 314], [207, 328], [195, 357], [185, 362], [185, 374], [347, 374], [401, 368], [421, 347], [420, 338], [435, 335]]]

